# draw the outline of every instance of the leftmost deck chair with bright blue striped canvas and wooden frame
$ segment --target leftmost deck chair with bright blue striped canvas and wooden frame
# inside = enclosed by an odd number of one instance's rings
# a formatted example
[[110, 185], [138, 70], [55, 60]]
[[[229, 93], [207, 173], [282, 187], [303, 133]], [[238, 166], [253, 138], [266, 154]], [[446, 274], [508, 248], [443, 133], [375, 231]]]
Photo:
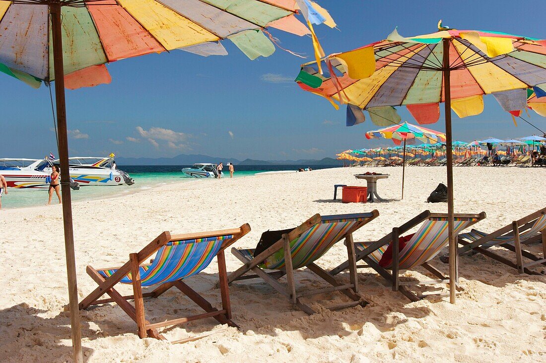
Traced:
[[[165, 340], [157, 329], [163, 326], [190, 322], [192, 320], [213, 317], [221, 324], [237, 326], [232, 322], [232, 313], [229, 302], [227, 273], [225, 271], [224, 250], [238, 239], [250, 232], [248, 224], [240, 228], [224, 229], [192, 234], [171, 235], [163, 232], [149, 245], [138, 253], [130, 253], [129, 261], [119, 268], [94, 269], [87, 266], [87, 273], [98, 283], [98, 287], [80, 302], [80, 310], [91, 305], [116, 302], [138, 326], [138, 335], [141, 338], [154, 337]], [[151, 263], [144, 264], [147, 258], [156, 253]], [[222, 310], [218, 310], [201, 295], [182, 282], [190, 276], [203, 271], [217, 256], [219, 287], [222, 295]], [[133, 295], [122, 296], [114, 286], [117, 283], [133, 285]], [[157, 285], [151, 292], [142, 292], [143, 287]], [[206, 312], [203, 314], [150, 323], [145, 319], [145, 297], [158, 297], [171, 287], [178, 288], [189, 299], [193, 300]], [[109, 299], [99, 300], [102, 295], [108, 294]], [[134, 299], [134, 307], [127, 300]], [[186, 338], [174, 341], [183, 343], [192, 340]]]

